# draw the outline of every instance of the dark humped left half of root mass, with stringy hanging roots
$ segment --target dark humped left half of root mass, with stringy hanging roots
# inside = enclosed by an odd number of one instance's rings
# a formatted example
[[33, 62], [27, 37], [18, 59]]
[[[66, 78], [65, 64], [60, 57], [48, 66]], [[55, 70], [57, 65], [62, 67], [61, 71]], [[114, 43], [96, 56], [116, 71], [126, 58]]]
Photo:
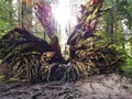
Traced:
[[44, 53], [47, 53], [44, 58], [54, 53], [45, 63], [63, 63], [51, 44], [26, 30], [14, 29], [0, 40], [0, 56], [8, 78], [38, 81], [43, 73], [41, 56]]

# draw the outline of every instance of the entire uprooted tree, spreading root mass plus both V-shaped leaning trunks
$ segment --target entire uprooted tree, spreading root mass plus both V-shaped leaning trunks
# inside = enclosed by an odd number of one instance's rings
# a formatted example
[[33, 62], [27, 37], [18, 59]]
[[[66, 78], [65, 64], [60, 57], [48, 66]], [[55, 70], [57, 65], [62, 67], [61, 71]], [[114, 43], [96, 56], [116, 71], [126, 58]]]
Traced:
[[[81, 6], [81, 16], [70, 34], [69, 61], [64, 61], [58, 38], [55, 35], [54, 19], [47, 3], [36, 3], [36, 16], [51, 38], [34, 36], [28, 30], [14, 29], [0, 40], [0, 56], [4, 64], [6, 78], [31, 82], [63, 80], [72, 81], [95, 74], [113, 73], [124, 64], [125, 57], [111, 44], [96, 46], [95, 32], [103, 0], [90, 0]], [[50, 18], [50, 20], [47, 20]]]

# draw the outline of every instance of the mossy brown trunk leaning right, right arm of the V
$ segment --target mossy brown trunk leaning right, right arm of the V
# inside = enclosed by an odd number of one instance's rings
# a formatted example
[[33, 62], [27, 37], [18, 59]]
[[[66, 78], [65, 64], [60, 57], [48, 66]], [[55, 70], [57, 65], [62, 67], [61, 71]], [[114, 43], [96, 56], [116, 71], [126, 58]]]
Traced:
[[81, 7], [81, 16], [78, 20], [78, 24], [75, 26], [73, 33], [69, 35], [67, 44], [69, 45], [70, 57], [74, 58], [78, 42], [94, 37], [98, 24], [99, 12], [105, 0], [90, 0], [86, 6]]

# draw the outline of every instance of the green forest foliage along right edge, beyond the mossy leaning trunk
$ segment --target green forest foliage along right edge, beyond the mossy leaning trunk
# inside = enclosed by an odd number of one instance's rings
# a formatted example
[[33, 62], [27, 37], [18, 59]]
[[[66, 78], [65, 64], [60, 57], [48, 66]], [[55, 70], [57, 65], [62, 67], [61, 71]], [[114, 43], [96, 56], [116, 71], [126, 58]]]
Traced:
[[[122, 29], [121, 21], [127, 19], [125, 23], [128, 29], [132, 30], [132, 1], [131, 0], [106, 0], [103, 3], [105, 10], [100, 18], [100, 29], [97, 31], [98, 46], [107, 45], [107, 43], [112, 43], [118, 52], [124, 53], [127, 57], [125, 64], [121, 67], [125, 75], [132, 77], [132, 58], [128, 55], [132, 55], [132, 44], [131, 38], [125, 41], [125, 33]], [[102, 10], [103, 10], [102, 9]], [[101, 40], [101, 41], [100, 41]]]

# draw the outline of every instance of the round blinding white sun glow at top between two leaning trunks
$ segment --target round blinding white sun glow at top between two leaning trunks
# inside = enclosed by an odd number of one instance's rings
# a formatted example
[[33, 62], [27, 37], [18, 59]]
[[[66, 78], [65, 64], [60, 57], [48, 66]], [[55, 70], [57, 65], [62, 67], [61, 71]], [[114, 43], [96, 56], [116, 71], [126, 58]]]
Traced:
[[58, 25], [66, 26], [69, 22], [76, 23], [76, 18], [72, 14], [69, 0], [59, 0], [53, 14]]

